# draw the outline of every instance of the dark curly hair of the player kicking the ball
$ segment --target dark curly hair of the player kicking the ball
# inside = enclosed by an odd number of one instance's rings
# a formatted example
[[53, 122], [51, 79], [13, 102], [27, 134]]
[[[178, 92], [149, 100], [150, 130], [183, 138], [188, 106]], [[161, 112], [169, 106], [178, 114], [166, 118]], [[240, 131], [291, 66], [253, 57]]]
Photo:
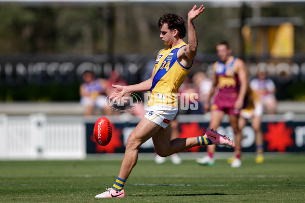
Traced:
[[187, 35], [187, 27], [184, 19], [175, 13], [165, 13], [160, 17], [158, 25], [161, 28], [163, 24], [167, 24], [170, 30], [177, 29], [179, 38], [183, 39]]

